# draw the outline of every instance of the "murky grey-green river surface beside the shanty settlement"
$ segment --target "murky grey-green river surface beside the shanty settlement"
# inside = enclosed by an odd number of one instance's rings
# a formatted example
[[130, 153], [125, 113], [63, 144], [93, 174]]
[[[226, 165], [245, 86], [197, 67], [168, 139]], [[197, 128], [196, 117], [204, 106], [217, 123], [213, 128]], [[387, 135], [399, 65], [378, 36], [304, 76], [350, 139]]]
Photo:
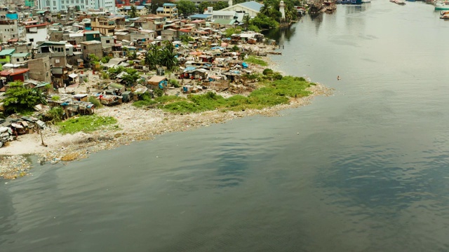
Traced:
[[449, 251], [438, 18], [374, 0], [272, 34], [335, 94], [1, 181], [0, 251]]

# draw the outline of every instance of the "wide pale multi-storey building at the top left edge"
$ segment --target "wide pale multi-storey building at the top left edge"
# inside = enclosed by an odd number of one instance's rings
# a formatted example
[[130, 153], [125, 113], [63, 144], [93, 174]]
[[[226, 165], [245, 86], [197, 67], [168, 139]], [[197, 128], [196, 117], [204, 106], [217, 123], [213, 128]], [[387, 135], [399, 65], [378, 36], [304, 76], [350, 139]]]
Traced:
[[69, 6], [79, 7], [80, 10], [115, 11], [114, 0], [36, 0], [37, 8], [48, 9], [51, 12], [67, 10]]

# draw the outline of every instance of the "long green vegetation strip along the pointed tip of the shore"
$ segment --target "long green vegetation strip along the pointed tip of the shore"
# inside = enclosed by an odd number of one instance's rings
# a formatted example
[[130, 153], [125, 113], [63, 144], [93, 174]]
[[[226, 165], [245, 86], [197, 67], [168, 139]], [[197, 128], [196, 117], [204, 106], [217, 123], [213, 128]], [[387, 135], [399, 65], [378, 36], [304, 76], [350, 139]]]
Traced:
[[187, 99], [175, 96], [163, 96], [156, 99], [145, 97], [134, 106], [154, 106], [170, 113], [198, 113], [203, 111], [241, 111], [245, 109], [263, 109], [279, 104], [288, 104], [292, 97], [306, 97], [310, 94], [305, 90], [314, 83], [304, 78], [285, 76], [281, 80], [265, 81], [263, 86], [254, 90], [248, 97], [234, 95], [224, 98], [214, 92], [206, 94], [189, 94]]

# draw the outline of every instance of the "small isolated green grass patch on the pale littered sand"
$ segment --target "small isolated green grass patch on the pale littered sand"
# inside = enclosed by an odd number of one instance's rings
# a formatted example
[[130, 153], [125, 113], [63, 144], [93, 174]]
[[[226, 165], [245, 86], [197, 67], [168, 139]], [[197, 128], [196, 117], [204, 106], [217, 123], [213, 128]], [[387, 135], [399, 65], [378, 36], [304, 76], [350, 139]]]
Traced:
[[112, 116], [80, 116], [70, 118], [58, 123], [59, 132], [62, 134], [74, 134], [76, 132], [93, 132], [95, 130], [118, 129], [117, 120]]

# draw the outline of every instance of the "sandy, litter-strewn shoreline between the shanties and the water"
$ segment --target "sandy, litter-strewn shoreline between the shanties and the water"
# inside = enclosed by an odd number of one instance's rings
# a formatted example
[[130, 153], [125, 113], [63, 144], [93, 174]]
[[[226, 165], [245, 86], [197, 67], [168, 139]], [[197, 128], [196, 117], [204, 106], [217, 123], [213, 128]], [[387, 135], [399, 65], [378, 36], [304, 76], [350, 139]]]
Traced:
[[[279, 71], [269, 57], [262, 57], [274, 71]], [[254, 66], [256, 69], [260, 66]], [[279, 71], [283, 73], [282, 71]], [[113, 116], [117, 119], [120, 130], [97, 130], [95, 132], [77, 132], [75, 134], [60, 134], [58, 127], [48, 126], [43, 131], [41, 145], [39, 134], [24, 134], [17, 141], [8, 142], [1, 148], [0, 179], [16, 179], [28, 174], [33, 164], [27, 161], [25, 155], [37, 155], [41, 163], [73, 161], [88, 158], [91, 153], [110, 150], [119, 146], [129, 145], [134, 141], [152, 140], [157, 135], [171, 132], [184, 132], [199, 127], [208, 127], [216, 123], [225, 123], [235, 118], [247, 116], [279, 116], [279, 111], [293, 109], [311, 103], [319, 95], [329, 96], [333, 90], [316, 83], [307, 90], [307, 97], [290, 99], [289, 104], [281, 104], [265, 109], [249, 109], [245, 111], [205, 111], [201, 113], [172, 114], [161, 109], [139, 109], [132, 103], [118, 106], [103, 106], [95, 110], [99, 116]]]

